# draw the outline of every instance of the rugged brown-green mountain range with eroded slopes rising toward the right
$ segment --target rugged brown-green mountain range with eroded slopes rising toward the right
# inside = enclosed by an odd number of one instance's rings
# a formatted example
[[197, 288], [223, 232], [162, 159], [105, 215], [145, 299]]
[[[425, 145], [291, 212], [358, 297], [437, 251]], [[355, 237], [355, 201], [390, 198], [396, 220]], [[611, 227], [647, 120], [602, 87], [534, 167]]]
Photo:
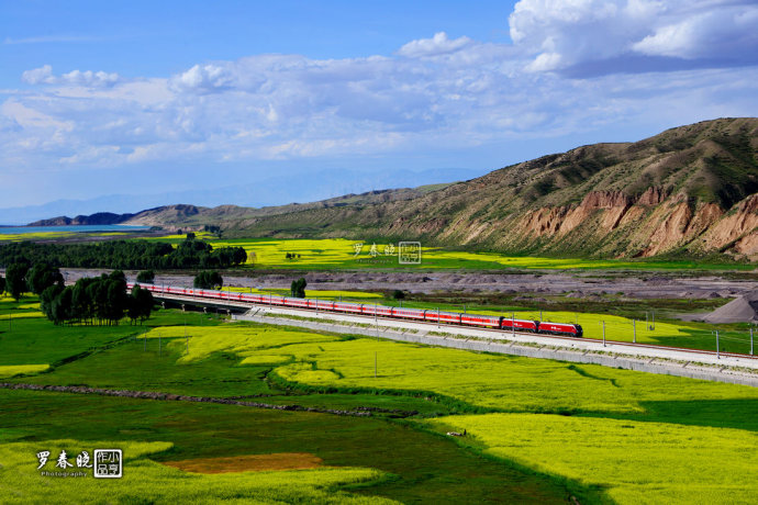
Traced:
[[582, 146], [450, 184], [261, 209], [170, 205], [119, 218], [214, 224], [230, 237], [420, 239], [513, 254], [758, 259], [757, 192], [758, 119], [740, 117], [635, 143]]

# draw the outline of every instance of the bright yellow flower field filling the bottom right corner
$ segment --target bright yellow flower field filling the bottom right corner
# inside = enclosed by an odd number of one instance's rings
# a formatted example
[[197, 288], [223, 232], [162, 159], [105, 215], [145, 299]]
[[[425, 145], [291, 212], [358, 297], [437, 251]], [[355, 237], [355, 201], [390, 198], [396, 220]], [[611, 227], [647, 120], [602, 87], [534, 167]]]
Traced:
[[582, 484], [616, 503], [755, 503], [758, 434], [556, 415], [432, 419], [487, 453]]

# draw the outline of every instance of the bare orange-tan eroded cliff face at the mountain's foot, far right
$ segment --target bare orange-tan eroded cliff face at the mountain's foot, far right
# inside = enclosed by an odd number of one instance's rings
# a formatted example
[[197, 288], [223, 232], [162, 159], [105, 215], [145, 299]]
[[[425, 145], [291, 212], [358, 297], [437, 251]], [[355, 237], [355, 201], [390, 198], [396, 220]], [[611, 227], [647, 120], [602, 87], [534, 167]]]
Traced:
[[[590, 223], [591, 227], [582, 226]], [[628, 244], [617, 257], [651, 257], [684, 249], [722, 251], [758, 259], [758, 194], [725, 212], [715, 203], [694, 203], [687, 195], [649, 188], [637, 198], [620, 191], [594, 191], [576, 206], [540, 207], [515, 224], [520, 238], [544, 244], [582, 240], [599, 248], [613, 242]], [[581, 233], [581, 237], [572, 236]], [[607, 247], [606, 247], [607, 248]]]

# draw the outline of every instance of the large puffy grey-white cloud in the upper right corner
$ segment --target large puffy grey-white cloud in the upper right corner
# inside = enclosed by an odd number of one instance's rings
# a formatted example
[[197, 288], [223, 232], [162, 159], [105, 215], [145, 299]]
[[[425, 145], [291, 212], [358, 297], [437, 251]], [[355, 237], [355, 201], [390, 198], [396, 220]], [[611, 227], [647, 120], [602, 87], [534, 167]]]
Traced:
[[532, 71], [758, 63], [758, 5], [747, 0], [521, 0], [509, 23]]

